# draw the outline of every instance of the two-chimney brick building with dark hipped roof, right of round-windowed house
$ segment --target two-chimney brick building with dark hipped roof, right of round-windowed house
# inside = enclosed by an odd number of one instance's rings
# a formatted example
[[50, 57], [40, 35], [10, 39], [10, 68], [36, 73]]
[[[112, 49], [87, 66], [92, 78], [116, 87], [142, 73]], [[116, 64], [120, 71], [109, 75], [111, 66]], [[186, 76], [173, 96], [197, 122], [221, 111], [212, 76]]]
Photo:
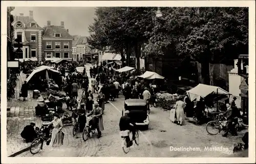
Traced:
[[51, 21], [47, 21], [42, 32], [42, 60], [61, 58], [72, 59], [72, 36], [69, 30], [65, 29], [64, 22], [60, 22], [60, 26], [51, 25]]

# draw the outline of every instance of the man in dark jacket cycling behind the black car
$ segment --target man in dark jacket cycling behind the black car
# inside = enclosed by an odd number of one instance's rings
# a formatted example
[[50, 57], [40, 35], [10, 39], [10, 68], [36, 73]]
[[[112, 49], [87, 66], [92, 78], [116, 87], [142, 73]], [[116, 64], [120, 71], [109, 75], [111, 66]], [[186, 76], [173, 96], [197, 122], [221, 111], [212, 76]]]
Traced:
[[[129, 111], [124, 112], [124, 116], [122, 116], [120, 118], [120, 121], [119, 121], [119, 128], [120, 128], [120, 131], [124, 131], [124, 130], [132, 131], [133, 140], [134, 140], [135, 139], [135, 132], [136, 132], [136, 129], [135, 129], [136, 124], [131, 121], [131, 118], [128, 116], [129, 113], [130, 113]], [[125, 136], [125, 141], [127, 143], [127, 147], [130, 147], [130, 146], [133, 145], [133, 142], [130, 142], [131, 139], [130, 139], [129, 135]]]

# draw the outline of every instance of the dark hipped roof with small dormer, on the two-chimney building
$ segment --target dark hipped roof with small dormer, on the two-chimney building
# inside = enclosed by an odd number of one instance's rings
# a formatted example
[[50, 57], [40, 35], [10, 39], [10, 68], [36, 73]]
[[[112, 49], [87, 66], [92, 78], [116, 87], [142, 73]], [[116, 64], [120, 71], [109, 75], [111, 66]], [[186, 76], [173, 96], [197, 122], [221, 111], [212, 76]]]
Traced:
[[42, 37], [45, 38], [55, 38], [54, 34], [59, 33], [60, 38], [69, 38], [71, 39], [72, 36], [68, 33], [65, 28], [61, 28], [59, 25], [50, 25], [45, 26], [44, 30], [42, 31]]

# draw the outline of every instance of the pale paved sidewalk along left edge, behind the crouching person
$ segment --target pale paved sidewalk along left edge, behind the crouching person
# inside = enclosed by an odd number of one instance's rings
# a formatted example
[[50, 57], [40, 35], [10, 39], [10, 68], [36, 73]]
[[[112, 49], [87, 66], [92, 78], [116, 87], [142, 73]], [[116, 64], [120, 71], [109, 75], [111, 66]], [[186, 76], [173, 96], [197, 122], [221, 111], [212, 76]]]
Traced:
[[20, 136], [20, 133], [26, 125], [34, 122], [36, 126], [40, 126], [42, 121], [35, 116], [35, 106], [37, 102], [32, 98], [33, 91], [29, 90], [26, 101], [19, 100], [19, 92], [22, 84], [26, 80], [26, 75], [20, 73], [15, 89], [15, 98], [7, 100], [7, 106], [10, 111], [7, 111], [7, 155], [14, 154], [22, 149], [28, 147], [31, 143], [26, 143]]

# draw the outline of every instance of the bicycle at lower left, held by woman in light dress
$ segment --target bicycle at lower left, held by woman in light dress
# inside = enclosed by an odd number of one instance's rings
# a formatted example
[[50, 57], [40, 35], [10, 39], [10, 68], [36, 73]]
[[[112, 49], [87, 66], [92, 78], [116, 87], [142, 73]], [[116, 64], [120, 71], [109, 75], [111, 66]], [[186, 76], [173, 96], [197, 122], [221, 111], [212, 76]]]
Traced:
[[[52, 137], [52, 126], [42, 125], [41, 129], [37, 131], [37, 138], [30, 145], [30, 153], [36, 154], [42, 150], [42, 145], [46, 141], [46, 145], [49, 145]], [[47, 128], [49, 129], [49, 135], [46, 133]], [[34, 148], [36, 147], [35, 151]]]

